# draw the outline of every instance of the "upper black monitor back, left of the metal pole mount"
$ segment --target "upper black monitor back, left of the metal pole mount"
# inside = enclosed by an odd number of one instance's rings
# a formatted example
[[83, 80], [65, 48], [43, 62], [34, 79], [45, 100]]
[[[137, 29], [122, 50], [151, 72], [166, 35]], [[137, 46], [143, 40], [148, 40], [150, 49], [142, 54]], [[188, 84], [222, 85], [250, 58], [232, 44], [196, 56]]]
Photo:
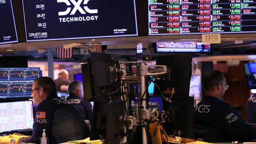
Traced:
[[[117, 75], [115, 75], [115, 70], [120, 69], [117, 55], [92, 53], [91, 57], [88, 58], [88, 64], [90, 76], [93, 76], [92, 88], [94, 89], [95, 97], [109, 98], [121, 96], [121, 90], [119, 89], [121, 80], [116, 79]], [[113, 68], [112, 73], [110, 67]], [[115, 90], [117, 90], [117, 92], [109, 94]]]

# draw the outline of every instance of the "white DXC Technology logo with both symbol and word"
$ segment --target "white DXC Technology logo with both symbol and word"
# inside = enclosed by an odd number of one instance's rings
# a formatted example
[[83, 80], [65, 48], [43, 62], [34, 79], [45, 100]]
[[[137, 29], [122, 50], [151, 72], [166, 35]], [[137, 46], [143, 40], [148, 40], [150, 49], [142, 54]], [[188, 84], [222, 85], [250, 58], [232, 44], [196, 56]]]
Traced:
[[[76, 2], [76, 0], [57, 0], [58, 3], [65, 3], [67, 6], [71, 6], [74, 5], [74, 8], [71, 11], [71, 7], [67, 7], [66, 11], [61, 11], [58, 12], [59, 16], [64, 16], [64, 15], [68, 15], [70, 13], [70, 15], [74, 15], [76, 13], [76, 11], [79, 11], [82, 15], [87, 13], [98, 13], [98, 9], [89, 9], [88, 6], [83, 6], [83, 8], [80, 6], [83, 2], [83, 5], [87, 5], [87, 3], [90, 0], [78, 0]], [[98, 19], [98, 15], [94, 15], [94, 16], [87, 16], [87, 17], [67, 17], [67, 18], [59, 18], [60, 22], [76, 22], [76, 21], [87, 21], [87, 20], [97, 20]]]

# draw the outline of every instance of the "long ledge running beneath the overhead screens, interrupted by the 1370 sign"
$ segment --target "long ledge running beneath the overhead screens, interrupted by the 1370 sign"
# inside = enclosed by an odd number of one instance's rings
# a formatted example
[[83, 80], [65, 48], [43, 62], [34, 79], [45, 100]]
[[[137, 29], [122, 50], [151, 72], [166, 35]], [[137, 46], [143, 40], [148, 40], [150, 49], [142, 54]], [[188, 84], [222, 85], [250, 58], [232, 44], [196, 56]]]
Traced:
[[[37, 42], [19, 42], [13, 44], [0, 45], [0, 54], [12, 53], [6, 52], [5, 50], [14, 49], [15, 52], [27, 52], [45, 48], [59, 48], [63, 47], [63, 44], [70, 43], [83, 43], [83, 44], [101, 44], [107, 45], [109, 48], [119, 47], [124, 48], [123, 44], [136, 44], [139, 42], [181, 42], [181, 41], [202, 41], [201, 35], [157, 35], [157, 36], [134, 36], [134, 37], [110, 37], [110, 38], [97, 38], [97, 39], [74, 39], [74, 40], [61, 40], [61, 41], [37, 41]], [[222, 34], [221, 35], [221, 46], [226, 46], [225, 43], [228, 41], [228, 45], [234, 44], [234, 41], [256, 41], [256, 34], [254, 33], [243, 33], [243, 34]], [[120, 46], [116, 46], [120, 45]], [[216, 44], [218, 46], [218, 44]], [[219, 48], [228, 48], [226, 47]], [[82, 48], [81, 46], [78, 46]], [[241, 47], [237, 45], [237, 47]], [[126, 49], [129, 49], [127, 47]]]

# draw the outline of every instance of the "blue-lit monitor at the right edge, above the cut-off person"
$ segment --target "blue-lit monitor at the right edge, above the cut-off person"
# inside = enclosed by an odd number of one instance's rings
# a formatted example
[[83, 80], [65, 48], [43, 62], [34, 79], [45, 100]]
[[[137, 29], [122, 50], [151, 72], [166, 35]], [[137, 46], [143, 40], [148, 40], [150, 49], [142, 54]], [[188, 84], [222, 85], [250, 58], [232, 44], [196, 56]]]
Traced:
[[245, 63], [248, 89], [256, 89], [256, 63]]

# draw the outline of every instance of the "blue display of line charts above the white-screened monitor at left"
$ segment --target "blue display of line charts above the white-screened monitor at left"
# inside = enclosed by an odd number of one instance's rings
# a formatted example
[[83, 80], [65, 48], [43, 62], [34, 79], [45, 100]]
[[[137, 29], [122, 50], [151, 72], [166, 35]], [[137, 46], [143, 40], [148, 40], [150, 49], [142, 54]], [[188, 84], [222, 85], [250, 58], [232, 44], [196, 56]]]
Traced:
[[0, 99], [31, 97], [33, 81], [40, 68], [0, 68]]

